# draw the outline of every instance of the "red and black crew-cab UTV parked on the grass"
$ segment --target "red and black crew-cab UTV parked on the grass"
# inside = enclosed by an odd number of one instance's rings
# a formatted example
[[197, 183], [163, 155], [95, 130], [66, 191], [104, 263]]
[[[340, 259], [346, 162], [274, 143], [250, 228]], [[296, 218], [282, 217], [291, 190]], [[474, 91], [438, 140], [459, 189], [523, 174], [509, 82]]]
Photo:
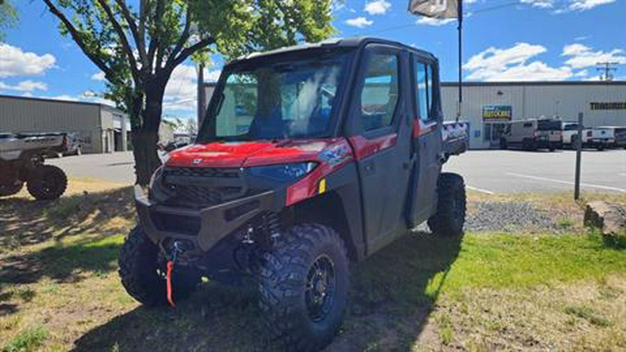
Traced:
[[275, 343], [326, 346], [350, 262], [424, 221], [463, 233], [463, 178], [441, 169], [467, 126], [444, 133], [438, 71], [425, 51], [371, 38], [225, 65], [198, 140], [168, 154], [147, 193], [135, 188], [140, 225], [119, 259], [128, 293], [174, 304], [202, 277], [247, 275]]

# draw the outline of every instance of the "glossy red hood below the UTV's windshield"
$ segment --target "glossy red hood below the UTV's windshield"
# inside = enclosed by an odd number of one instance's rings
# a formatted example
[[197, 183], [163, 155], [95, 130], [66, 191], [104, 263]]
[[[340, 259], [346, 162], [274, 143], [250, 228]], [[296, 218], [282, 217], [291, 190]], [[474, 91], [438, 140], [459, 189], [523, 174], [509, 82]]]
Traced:
[[319, 152], [343, 138], [211, 142], [170, 152], [167, 166], [239, 168], [276, 163], [315, 161]]

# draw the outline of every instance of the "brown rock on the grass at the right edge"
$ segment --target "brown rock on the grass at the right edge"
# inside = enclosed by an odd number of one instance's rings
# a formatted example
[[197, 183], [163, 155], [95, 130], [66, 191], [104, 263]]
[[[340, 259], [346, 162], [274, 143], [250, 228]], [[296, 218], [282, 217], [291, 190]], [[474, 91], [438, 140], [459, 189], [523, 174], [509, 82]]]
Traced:
[[626, 207], [607, 202], [588, 202], [584, 224], [602, 232], [604, 239], [622, 243], [626, 239]]

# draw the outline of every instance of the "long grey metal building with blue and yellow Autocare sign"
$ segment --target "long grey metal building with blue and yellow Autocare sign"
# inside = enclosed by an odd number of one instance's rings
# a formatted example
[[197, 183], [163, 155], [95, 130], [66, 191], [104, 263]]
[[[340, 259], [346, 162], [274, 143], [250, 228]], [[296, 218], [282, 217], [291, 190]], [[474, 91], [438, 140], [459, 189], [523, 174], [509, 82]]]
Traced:
[[[458, 111], [458, 83], [442, 83], [446, 120]], [[585, 127], [626, 126], [626, 81], [463, 83], [463, 117], [470, 122], [470, 148], [497, 148], [510, 120], [557, 117]]]

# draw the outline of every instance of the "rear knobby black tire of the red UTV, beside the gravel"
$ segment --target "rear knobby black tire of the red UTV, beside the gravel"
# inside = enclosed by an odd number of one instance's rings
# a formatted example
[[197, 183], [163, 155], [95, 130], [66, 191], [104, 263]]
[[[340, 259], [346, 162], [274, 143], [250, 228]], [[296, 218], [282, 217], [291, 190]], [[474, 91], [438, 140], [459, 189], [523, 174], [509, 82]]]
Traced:
[[454, 173], [442, 173], [437, 182], [437, 213], [428, 219], [428, 227], [441, 236], [463, 235], [465, 224], [465, 182]]

